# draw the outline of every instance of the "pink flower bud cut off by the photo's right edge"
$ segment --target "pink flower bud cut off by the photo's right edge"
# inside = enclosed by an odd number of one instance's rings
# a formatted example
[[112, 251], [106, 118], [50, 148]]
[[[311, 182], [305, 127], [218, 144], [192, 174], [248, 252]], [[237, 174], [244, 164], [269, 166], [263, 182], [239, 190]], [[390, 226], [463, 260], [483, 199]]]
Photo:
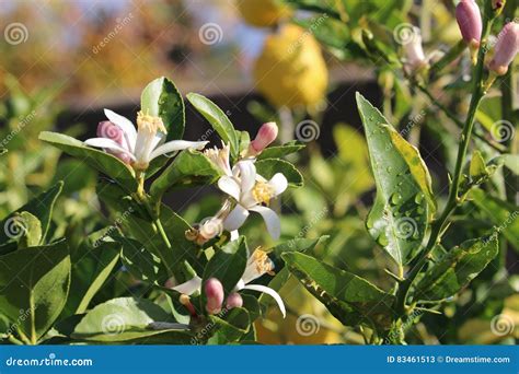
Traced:
[[504, 75], [508, 71], [508, 66], [519, 50], [519, 24], [509, 22], [503, 27], [497, 36], [494, 50], [494, 58], [488, 68], [498, 75]]

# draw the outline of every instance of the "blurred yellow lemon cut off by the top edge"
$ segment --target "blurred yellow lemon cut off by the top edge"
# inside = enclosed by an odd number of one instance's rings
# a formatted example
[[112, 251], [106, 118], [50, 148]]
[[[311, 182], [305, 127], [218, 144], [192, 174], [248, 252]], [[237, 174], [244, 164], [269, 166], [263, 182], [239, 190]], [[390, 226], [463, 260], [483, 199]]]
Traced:
[[238, 0], [237, 4], [243, 20], [256, 27], [273, 26], [291, 13], [277, 0]]

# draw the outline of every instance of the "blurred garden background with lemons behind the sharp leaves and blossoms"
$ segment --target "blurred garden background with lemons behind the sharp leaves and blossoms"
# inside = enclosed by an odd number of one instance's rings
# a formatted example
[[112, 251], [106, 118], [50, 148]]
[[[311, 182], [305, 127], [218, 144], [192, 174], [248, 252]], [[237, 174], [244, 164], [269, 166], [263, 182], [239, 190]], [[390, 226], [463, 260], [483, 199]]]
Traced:
[[[262, 122], [276, 120], [281, 142], [307, 143], [305, 152], [291, 160], [302, 168], [305, 187], [282, 201], [284, 238], [328, 235], [315, 248], [316, 256], [388, 289], [390, 279], [383, 271], [388, 258], [364, 226], [374, 186], [355, 92], [383, 105], [395, 126], [413, 125], [406, 136], [419, 147], [439, 194], [446, 190], [446, 167], [451, 167], [455, 139], [434, 130], [445, 118], [423, 97], [413, 96], [399, 73], [370, 68], [366, 50], [358, 47], [360, 30], [377, 22], [391, 31], [413, 23], [422, 27], [427, 52], [446, 49], [460, 39], [452, 16], [455, 2], [335, 1], [344, 7], [344, 12], [338, 7], [343, 23], [315, 17], [315, 7], [333, 2], [299, 1], [304, 5], [300, 10], [275, 0], [1, 2], [0, 147], [9, 152], [0, 160], [0, 217], [65, 179], [60, 214], [55, 214], [60, 219], [54, 223], [65, 235], [86, 235], [112, 223], [96, 199], [95, 173], [77, 160], [62, 157], [58, 163], [60, 152], [42, 144], [37, 135], [54, 129], [90, 138], [104, 120], [103, 108], [135, 119], [143, 86], [165, 75], [183, 94], [210, 97], [237, 128], [252, 136]], [[470, 71], [469, 56], [457, 63]], [[468, 80], [462, 77], [459, 86]], [[466, 107], [462, 98], [454, 104]], [[209, 125], [186, 106], [184, 139], [218, 144]], [[491, 122], [499, 116], [491, 102], [485, 114]], [[218, 195], [210, 192], [210, 188], [175, 192], [168, 201], [188, 222], [199, 222], [220, 203]], [[272, 243], [265, 243], [262, 224], [251, 223], [244, 233], [253, 244], [268, 247]], [[517, 272], [518, 261], [514, 250], [503, 259], [511, 273]], [[517, 330], [493, 335], [487, 319], [504, 308], [519, 318], [517, 279], [505, 281], [492, 269], [486, 277], [498, 279], [492, 294], [475, 282], [465, 299], [449, 306], [449, 315], [427, 316], [429, 326], [441, 329], [418, 324], [412, 341], [514, 341]], [[120, 285], [131, 283], [123, 271], [112, 282], [106, 300], [129, 292]], [[281, 322], [273, 309], [256, 326], [261, 342], [364, 343], [356, 328], [338, 324], [296, 280], [282, 295], [289, 305], [288, 319]], [[316, 318], [316, 328], [302, 330], [301, 315]]]

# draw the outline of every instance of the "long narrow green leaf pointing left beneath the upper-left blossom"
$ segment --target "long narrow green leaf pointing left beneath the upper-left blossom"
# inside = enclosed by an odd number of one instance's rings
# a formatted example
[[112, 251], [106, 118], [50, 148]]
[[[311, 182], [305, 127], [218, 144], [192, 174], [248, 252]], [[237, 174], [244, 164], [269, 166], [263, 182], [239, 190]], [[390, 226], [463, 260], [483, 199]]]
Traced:
[[134, 171], [116, 156], [86, 147], [78, 139], [58, 132], [43, 131], [39, 133], [39, 140], [53, 144], [67, 154], [79, 157], [91, 167], [116, 180], [125, 187], [127, 191], [132, 192], [137, 190]]

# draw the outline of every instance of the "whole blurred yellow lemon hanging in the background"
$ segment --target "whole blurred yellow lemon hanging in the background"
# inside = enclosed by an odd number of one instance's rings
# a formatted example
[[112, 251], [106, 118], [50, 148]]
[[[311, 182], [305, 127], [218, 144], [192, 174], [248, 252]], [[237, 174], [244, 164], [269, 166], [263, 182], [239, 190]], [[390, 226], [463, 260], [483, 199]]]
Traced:
[[266, 38], [254, 66], [257, 90], [276, 107], [315, 106], [326, 94], [327, 79], [318, 42], [291, 24]]

